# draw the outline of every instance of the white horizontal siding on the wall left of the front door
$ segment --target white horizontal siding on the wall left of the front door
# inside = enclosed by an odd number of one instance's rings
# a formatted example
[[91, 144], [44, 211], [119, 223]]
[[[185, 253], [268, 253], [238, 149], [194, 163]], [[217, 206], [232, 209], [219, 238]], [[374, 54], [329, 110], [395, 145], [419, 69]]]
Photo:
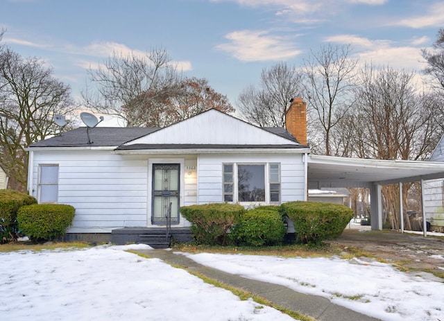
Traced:
[[[59, 165], [58, 203], [76, 209], [68, 232], [109, 233], [115, 227], [146, 226], [146, 157], [122, 157], [109, 150], [34, 152], [34, 164], [46, 159]], [[37, 171], [38, 166], [33, 166], [33, 186]], [[33, 187], [33, 196], [36, 193]]]

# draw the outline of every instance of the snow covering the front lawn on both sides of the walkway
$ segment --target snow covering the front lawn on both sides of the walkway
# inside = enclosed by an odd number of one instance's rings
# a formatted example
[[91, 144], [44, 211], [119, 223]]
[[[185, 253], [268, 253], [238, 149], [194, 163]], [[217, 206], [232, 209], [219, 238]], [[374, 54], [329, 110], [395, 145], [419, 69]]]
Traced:
[[[1, 320], [293, 320], [159, 259], [125, 252], [128, 248], [148, 247], [0, 253]], [[323, 295], [381, 320], [444, 321], [441, 279], [406, 274], [385, 263], [183, 255], [226, 272]]]

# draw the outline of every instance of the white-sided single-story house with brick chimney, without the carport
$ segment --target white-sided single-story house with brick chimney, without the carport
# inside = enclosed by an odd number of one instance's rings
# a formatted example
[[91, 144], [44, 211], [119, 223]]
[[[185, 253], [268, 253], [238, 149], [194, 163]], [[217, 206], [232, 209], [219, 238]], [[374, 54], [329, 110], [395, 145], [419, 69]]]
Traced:
[[28, 147], [28, 189], [40, 203], [75, 207], [68, 233], [76, 238], [164, 227], [170, 203], [171, 224], [183, 229], [181, 206], [307, 200], [306, 126], [296, 99], [287, 128], [300, 141], [217, 110], [167, 128], [89, 128], [90, 144], [77, 128]]

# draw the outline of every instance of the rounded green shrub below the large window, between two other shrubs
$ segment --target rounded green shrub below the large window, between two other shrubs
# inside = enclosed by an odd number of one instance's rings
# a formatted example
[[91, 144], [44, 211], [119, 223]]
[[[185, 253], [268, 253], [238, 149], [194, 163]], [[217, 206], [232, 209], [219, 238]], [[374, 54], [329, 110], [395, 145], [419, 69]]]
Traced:
[[250, 209], [242, 214], [228, 235], [238, 245], [277, 245], [284, 240], [287, 229], [277, 209]]

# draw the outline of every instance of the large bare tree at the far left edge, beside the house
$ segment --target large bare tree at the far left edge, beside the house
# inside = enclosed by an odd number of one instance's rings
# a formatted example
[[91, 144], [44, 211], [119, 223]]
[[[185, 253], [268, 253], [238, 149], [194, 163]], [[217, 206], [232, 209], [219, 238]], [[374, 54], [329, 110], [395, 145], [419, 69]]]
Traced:
[[26, 146], [58, 133], [53, 116], [74, 108], [69, 86], [54, 78], [42, 60], [0, 49], [0, 164], [9, 188], [26, 189]]

